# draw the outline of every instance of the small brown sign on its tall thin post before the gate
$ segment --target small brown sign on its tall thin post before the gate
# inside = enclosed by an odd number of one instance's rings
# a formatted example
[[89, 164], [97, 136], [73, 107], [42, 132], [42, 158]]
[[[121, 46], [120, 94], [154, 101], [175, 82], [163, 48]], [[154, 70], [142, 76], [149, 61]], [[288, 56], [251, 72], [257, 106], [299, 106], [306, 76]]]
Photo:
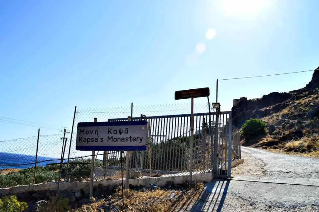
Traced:
[[193, 134], [194, 134], [194, 98], [208, 97], [209, 88], [197, 88], [183, 91], [175, 91], [175, 100], [191, 99], [190, 109], [190, 136], [189, 136], [189, 186], [192, 185], [193, 172]]

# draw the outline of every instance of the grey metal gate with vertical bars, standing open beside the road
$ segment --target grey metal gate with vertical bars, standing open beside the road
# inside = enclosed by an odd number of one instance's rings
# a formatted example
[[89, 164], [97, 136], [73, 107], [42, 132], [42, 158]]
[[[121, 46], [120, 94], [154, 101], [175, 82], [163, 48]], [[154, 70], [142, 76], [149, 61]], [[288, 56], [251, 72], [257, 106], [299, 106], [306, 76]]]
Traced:
[[[142, 172], [189, 172], [190, 114], [141, 114], [140, 117], [132, 118], [141, 119], [149, 122], [151, 144], [145, 151], [131, 153], [130, 167]], [[127, 121], [127, 118], [108, 121]], [[231, 112], [194, 113], [193, 136], [193, 171], [211, 170], [215, 177], [230, 177], [231, 160], [238, 158], [238, 150], [234, 150], [235, 146], [232, 146], [234, 136]], [[108, 152], [107, 157], [108, 160], [119, 158], [119, 152]]]

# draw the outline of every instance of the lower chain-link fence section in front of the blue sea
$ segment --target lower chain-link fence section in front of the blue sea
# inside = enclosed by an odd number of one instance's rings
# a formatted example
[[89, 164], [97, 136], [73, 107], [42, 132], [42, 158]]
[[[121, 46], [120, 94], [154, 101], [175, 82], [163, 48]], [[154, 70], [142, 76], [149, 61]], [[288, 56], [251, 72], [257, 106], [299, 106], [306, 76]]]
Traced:
[[[61, 158], [63, 135], [40, 135], [38, 147], [38, 166], [57, 163]], [[0, 141], [0, 169], [24, 169], [35, 163], [38, 136]]]

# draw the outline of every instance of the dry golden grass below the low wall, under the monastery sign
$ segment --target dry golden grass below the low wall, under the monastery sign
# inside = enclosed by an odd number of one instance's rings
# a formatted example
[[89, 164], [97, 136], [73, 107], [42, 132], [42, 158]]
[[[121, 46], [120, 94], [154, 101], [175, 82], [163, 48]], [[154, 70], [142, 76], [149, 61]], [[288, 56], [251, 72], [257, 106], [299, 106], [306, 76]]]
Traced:
[[39, 207], [40, 212], [173, 212], [197, 199], [204, 191], [204, 183], [195, 183], [192, 188], [182, 190], [137, 191], [125, 189], [124, 207], [122, 204], [122, 190], [119, 188], [115, 194], [104, 199], [91, 198], [89, 204], [80, 208], [71, 209], [66, 199], [43, 203]]

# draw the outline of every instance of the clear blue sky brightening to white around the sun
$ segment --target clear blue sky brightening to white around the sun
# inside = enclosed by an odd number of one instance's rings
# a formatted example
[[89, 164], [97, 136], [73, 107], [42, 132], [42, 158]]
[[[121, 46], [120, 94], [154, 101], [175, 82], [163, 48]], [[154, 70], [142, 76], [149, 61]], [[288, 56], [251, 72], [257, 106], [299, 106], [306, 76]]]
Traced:
[[[217, 78], [319, 66], [319, 1], [241, 2], [2, 0], [0, 116], [56, 134], [71, 128], [74, 106], [175, 103], [174, 91], [197, 87], [210, 87], [212, 102]], [[230, 110], [233, 99], [299, 89], [311, 76], [220, 81], [219, 102]], [[36, 134], [0, 121], [0, 140]]]

